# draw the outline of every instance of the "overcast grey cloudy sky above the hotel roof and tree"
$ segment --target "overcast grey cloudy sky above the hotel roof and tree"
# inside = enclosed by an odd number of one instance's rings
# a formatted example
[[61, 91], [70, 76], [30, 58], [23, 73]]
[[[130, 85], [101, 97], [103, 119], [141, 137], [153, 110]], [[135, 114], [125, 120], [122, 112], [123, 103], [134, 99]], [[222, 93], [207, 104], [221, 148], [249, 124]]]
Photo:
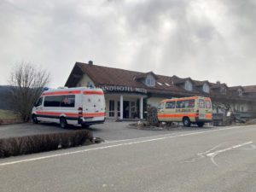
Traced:
[[255, 0], [0, 0], [0, 84], [21, 61], [63, 86], [75, 61], [256, 84]]

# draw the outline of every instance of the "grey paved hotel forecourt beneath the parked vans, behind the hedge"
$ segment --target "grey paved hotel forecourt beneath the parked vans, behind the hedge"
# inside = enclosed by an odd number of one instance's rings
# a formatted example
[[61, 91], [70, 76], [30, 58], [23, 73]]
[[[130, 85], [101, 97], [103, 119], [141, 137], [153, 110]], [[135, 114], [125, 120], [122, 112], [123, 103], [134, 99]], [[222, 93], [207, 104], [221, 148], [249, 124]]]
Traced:
[[[177, 128], [172, 131], [143, 131], [143, 130], [134, 130], [129, 128], [129, 125], [131, 123], [132, 122], [108, 121], [101, 125], [91, 125], [89, 130], [92, 131], [94, 137], [101, 137], [108, 142], [108, 141], [132, 139], [137, 137], [157, 136], [162, 134], [169, 134], [170, 132], [173, 133], [173, 132], [179, 132], [179, 131], [191, 131], [191, 130], [199, 129], [197, 126], [195, 126], [191, 128], [185, 128], [185, 127]], [[203, 129], [209, 129], [209, 128], [212, 128], [212, 127], [206, 127]], [[34, 125], [32, 123], [16, 124], [16, 125], [1, 125], [0, 138], [72, 131], [75, 129], [81, 129], [81, 126], [71, 126], [68, 129], [61, 129], [60, 125], [50, 124], [50, 123], [44, 123], [44, 124], [40, 123], [38, 125]]]

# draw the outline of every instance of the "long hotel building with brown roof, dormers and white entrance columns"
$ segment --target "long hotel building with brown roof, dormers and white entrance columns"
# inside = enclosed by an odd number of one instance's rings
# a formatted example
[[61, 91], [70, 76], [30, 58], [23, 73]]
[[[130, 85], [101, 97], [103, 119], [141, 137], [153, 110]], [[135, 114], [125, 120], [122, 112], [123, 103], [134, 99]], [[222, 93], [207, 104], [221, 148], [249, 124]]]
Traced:
[[104, 90], [106, 115], [110, 119], [143, 119], [149, 106], [157, 107], [161, 100], [183, 96], [209, 96], [215, 113], [219, 105], [229, 105], [234, 113], [253, 117], [256, 112], [256, 86], [228, 87], [177, 76], [141, 73], [119, 68], [76, 62], [67, 87], [96, 86]]

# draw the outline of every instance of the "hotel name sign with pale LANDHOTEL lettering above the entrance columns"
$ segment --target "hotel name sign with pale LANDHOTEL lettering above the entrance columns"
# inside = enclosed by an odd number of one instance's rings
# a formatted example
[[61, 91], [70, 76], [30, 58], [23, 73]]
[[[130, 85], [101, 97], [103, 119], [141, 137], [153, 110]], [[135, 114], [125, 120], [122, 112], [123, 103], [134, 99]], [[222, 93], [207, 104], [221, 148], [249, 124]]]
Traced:
[[100, 86], [102, 88], [103, 91], [107, 91], [107, 92], [136, 92], [136, 93], [147, 93], [146, 89], [143, 88], [138, 88], [138, 87], [129, 87], [129, 86], [117, 86], [117, 85], [113, 85], [113, 86]]

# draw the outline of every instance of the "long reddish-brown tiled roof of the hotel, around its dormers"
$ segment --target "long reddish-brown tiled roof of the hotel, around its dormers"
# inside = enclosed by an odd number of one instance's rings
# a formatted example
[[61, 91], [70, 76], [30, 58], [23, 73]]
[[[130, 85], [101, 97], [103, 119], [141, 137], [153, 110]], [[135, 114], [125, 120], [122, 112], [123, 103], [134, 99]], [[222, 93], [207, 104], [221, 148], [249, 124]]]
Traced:
[[[144, 88], [148, 90], [148, 93], [160, 93], [160, 94], [172, 94], [173, 96], [216, 96], [217, 97], [229, 97], [234, 95], [236, 87], [229, 87], [227, 84], [221, 83], [210, 83], [206, 81], [193, 80], [191, 78], [179, 78], [177, 76], [164, 76], [154, 74], [153, 72], [140, 73], [120, 68], [113, 67], [102, 67], [94, 64], [85, 64], [81, 62], [76, 62], [73, 67], [73, 71], [67, 79], [65, 86], [73, 87], [76, 86], [79, 82], [79, 79], [82, 78], [83, 74], [86, 73], [90, 79], [96, 84], [96, 86], [102, 85], [123, 85]], [[156, 79], [156, 84], [154, 87], [148, 87], [143, 83], [141, 79], [146, 78], [148, 74], [152, 74]], [[184, 90], [181, 84], [184, 84], [186, 80], [190, 80], [194, 85], [193, 91]], [[210, 85], [210, 94], [207, 94], [202, 91], [201, 87], [203, 84]], [[227, 88], [227, 93], [225, 95], [220, 94], [221, 87]], [[256, 85], [243, 87], [245, 91], [254, 91], [256, 92]]]

